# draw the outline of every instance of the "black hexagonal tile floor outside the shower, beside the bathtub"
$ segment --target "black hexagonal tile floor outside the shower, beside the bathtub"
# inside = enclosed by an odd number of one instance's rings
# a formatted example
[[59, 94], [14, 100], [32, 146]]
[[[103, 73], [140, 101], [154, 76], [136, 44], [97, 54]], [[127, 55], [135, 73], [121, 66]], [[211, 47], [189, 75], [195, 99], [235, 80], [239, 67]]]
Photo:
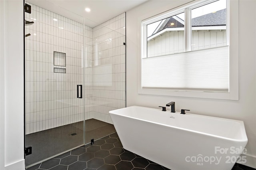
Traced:
[[[56, 156], [27, 170], [169, 170], [122, 148], [117, 133]], [[232, 170], [256, 170], [235, 164]]]

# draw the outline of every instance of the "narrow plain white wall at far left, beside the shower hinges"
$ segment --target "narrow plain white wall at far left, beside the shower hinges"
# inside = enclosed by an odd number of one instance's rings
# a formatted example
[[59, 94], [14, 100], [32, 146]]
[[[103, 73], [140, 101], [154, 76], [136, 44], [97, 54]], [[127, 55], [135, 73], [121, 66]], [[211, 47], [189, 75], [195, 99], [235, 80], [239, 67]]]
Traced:
[[23, 1], [0, 1], [0, 169], [24, 170]]

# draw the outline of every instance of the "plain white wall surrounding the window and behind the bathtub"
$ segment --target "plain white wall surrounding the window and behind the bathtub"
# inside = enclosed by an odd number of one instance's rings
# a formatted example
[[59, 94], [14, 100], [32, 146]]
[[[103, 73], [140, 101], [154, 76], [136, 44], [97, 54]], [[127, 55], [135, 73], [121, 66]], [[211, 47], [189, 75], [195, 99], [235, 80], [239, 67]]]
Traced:
[[[127, 106], [158, 108], [176, 102], [176, 111], [244, 121], [248, 144], [247, 166], [256, 168], [256, 1], [239, 1], [239, 100], [200, 99], [137, 93], [137, 62], [140, 56], [140, 20], [180, 6], [189, 0], [148, 1], [126, 13], [126, 94]], [[232, 29], [232, 28], [231, 28]], [[169, 109], [169, 108], [168, 108]], [[230, 127], [232, 128], [232, 127]], [[188, 141], [189, 144], [189, 141]]]

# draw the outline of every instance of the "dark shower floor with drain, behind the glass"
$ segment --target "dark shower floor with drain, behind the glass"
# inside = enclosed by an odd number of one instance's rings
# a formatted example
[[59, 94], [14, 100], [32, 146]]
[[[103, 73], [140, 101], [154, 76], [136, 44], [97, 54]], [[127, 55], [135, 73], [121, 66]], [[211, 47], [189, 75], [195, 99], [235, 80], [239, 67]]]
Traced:
[[[26, 156], [26, 166], [84, 144], [84, 122], [80, 121], [26, 135], [26, 146], [32, 154]], [[89, 119], [85, 121], [85, 143], [116, 132], [113, 125]], [[75, 134], [75, 135], [72, 135]]]

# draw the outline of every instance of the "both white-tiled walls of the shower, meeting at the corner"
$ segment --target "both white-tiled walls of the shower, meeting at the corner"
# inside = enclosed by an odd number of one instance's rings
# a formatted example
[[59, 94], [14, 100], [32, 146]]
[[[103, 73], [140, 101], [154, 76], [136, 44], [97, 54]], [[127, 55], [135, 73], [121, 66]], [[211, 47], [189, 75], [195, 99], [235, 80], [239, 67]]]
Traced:
[[[125, 13], [90, 28], [30, 5], [26, 134], [88, 119], [112, 124], [108, 112], [126, 107]], [[66, 53], [66, 66], [54, 66], [54, 51]], [[66, 73], [54, 73], [54, 67]], [[83, 99], [76, 96], [77, 84], [84, 85]]]

